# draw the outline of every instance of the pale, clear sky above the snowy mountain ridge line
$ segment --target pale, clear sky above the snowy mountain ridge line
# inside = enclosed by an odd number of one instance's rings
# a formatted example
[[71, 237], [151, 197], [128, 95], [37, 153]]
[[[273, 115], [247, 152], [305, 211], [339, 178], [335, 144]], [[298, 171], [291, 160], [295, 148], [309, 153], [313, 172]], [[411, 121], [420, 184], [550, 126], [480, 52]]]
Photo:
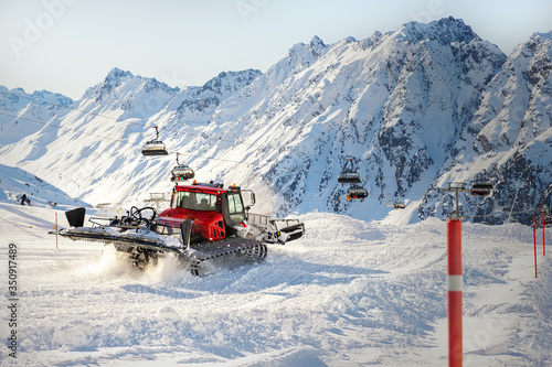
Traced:
[[552, 31], [551, 0], [0, 0], [0, 85], [73, 99], [113, 67], [169, 86], [268, 67], [326, 44], [453, 15], [510, 54]]

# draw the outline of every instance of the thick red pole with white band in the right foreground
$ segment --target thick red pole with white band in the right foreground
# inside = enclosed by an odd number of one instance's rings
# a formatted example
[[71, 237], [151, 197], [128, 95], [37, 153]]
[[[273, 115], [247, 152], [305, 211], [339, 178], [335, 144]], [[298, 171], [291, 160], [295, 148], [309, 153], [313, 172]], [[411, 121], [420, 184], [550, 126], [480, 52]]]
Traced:
[[461, 367], [461, 220], [447, 220], [448, 366]]

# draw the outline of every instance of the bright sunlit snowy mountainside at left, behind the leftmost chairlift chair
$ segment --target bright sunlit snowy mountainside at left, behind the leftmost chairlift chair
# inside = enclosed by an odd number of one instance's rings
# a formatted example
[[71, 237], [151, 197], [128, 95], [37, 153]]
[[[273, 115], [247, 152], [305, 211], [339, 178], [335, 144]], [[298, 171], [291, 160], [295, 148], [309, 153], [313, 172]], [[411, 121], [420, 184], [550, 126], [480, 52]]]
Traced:
[[[180, 90], [114, 68], [71, 109], [25, 120], [39, 129], [20, 140], [12, 134], [17, 142], [0, 148], [1, 161], [40, 174], [92, 203], [138, 202], [149, 197], [152, 186], [168, 192], [174, 155], [159, 160], [140, 154], [142, 144], [155, 138], [152, 127], [159, 125], [162, 138], [169, 136], [170, 148], [177, 148], [190, 134], [199, 136], [194, 126], [206, 123], [217, 98], [226, 98], [258, 73], [221, 73], [203, 87]], [[202, 112], [200, 106], [211, 107]]]

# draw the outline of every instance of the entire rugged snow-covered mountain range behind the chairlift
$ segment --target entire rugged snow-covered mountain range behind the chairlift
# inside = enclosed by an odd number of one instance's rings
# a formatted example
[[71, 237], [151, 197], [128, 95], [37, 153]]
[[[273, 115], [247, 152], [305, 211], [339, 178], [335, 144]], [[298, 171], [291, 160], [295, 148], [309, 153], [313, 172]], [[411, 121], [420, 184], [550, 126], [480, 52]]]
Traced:
[[[403, 197], [411, 222], [446, 215], [438, 188], [487, 170], [497, 190], [463, 198], [464, 209], [489, 214], [516, 197], [528, 211], [552, 192], [551, 68], [550, 33], [507, 57], [453, 18], [330, 45], [315, 36], [264, 74], [182, 90], [114, 69], [74, 109], [34, 117], [61, 128], [13, 132], [0, 159], [87, 202], [137, 202], [169, 190], [180, 152], [201, 181], [261, 193], [263, 211], [382, 219]], [[153, 126], [169, 156], [140, 155]], [[349, 159], [364, 202], [347, 202], [337, 182]]]

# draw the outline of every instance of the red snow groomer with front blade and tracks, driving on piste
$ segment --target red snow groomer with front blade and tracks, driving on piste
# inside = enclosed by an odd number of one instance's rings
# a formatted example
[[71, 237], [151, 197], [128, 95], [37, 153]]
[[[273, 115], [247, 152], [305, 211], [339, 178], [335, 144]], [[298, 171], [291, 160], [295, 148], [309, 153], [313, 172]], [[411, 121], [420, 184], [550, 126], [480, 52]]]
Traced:
[[170, 208], [159, 215], [152, 207], [132, 207], [127, 216], [92, 217], [93, 226], [83, 227], [85, 209], [77, 208], [66, 213], [72, 228], [56, 234], [73, 240], [112, 244], [129, 253], [140, 268], [174, 253], [193, 274], [203, 276], [216, 266], [233, 268], [263, 260], [266, 244], [284, 245], [305, 234], [305, 224], [298, 219], [248, 213], [254, 204], [255, 194], [235, 185], [224, 188], [214, 183], [177, 184]]

